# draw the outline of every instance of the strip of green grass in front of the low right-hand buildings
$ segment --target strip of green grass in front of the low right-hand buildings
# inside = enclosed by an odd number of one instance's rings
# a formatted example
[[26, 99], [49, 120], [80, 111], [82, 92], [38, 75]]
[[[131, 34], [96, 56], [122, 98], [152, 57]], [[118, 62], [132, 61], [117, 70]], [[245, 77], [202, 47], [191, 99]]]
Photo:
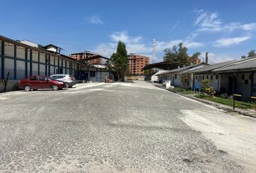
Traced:
[[[226, 99], [226, 98], [221, 98], [221, 97], [209, 97], [208, 95], [195, 95], [195, 97], [200, 98], [200, 99], [207, 99], [212, 102], [218, 102], [223, 105], [228, 105], [233, 107], [233, 99]], [[235, 107], [240, 108], [240, 109], [256, 109], [256, 104], [253, 102], [241, 102], [241, 101], [236, 101], [235, 102]]]

